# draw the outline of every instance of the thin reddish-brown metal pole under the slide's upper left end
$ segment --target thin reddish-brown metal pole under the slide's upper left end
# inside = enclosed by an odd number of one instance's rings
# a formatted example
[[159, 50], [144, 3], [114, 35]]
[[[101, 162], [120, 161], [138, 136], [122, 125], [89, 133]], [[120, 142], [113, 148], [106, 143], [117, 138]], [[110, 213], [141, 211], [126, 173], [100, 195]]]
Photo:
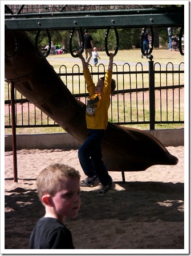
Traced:
[[13, 145], [13, 175], [14, 182], [17, 178], [17, 144], [16, 144], [16, 124], [15, 124], [15, 91], [14, 83], [11, 82], [11, 123], [12, 123], [12, 145]]

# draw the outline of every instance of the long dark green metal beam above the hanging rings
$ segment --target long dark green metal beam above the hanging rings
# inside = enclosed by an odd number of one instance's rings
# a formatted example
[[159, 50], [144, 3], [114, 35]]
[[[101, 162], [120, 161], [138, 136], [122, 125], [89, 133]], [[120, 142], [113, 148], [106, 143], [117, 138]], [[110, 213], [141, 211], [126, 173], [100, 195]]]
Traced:
[[[134, 14], [134, 15], [99, 15], [72, 17], [42, 17], [5, 19], [5, 30], [60, 30], [72, 28], [103, 29], [107, 27], [173, 27], [184, 26], [184, 13]], [[19, 16], [19, 15], [18, 15]]]

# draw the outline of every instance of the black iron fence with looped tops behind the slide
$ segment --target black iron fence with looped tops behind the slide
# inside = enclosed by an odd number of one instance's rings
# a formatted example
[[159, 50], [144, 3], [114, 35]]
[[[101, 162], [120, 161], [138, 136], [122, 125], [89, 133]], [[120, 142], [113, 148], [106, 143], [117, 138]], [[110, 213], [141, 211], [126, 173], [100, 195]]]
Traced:
[[[183, 124], [184, 63], [173, 65], [169, 62], [165, 66], [159, 62], [148, 63], [148, 70], [144, 70], [140, 62], [133, 70], [128, 63], [113, 64], [117, 88], [111, 96], [109, 121], [131, 126], [148, 124], [150, 129], [155, 129], [156, 124]], [[90, 66], [90, 72], [96, 82], [104, 76], [105, 66], [100, 64], [96, 69]], [[58, 75], [74, 97], [86, 104], [88, 93], [79, 65], [75, 64], [71, 70], [62, 65]], [[16, 128], [59, 126], [17, 91], [15, 125]], [[11, 128], [10, 84], [5, 86], [5, 128]]]

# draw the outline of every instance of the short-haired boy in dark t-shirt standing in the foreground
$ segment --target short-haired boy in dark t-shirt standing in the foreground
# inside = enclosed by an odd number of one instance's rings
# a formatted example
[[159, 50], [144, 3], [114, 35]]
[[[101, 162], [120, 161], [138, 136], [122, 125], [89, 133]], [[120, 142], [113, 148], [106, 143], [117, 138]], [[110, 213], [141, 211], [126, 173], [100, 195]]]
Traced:
[[74, 249], [66, 217], [75, 218], [81, 204], [80, 175], [64, 164], [52, 164], [36, 179], [45, 215], [40, 218], [30, 236], [30, 249]]

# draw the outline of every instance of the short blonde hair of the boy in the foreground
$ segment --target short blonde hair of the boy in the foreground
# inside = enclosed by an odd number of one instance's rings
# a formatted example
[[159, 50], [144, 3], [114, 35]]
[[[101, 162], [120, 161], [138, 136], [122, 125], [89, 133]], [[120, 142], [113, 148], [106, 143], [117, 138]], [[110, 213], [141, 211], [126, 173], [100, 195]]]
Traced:
[[40, 201], [44, 194], [54, 196], [62, 190], [62, 182], [66, 178], [78, 178], [80, 174], [74, 168], [65, 164], [51, 164], [44, 168], [36, 178], [36, 187]]

